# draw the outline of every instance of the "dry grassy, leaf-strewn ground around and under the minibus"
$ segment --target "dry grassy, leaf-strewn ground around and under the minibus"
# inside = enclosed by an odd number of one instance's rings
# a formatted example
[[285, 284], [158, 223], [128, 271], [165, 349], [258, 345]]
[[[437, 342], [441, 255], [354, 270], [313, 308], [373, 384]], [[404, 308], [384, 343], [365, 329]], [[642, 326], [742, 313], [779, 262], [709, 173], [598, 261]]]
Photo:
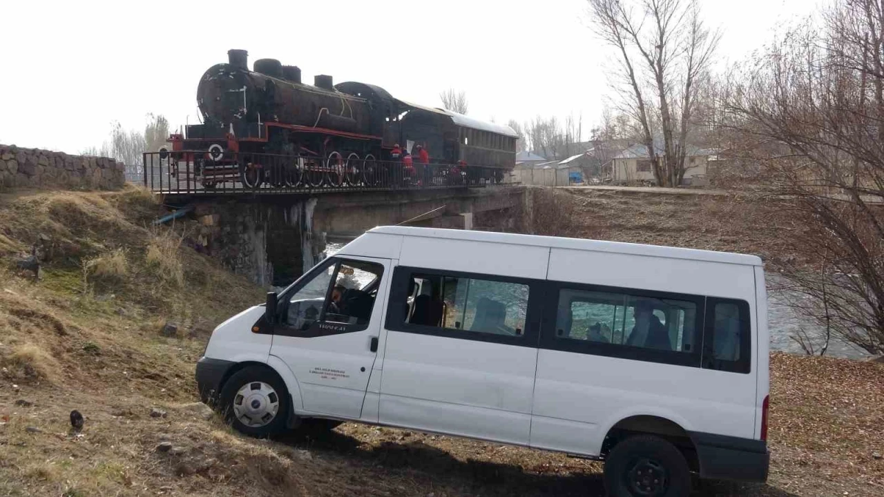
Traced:
[[[183, 286], [149, 263], [175, 240], [146, 227], [158, 210], [134, 189], [0, 195], [0, 265], [40, 233], [56, 247], [38, 283], [0, 273], [0, 495], [601, 494], [599, 464], [565, 455], [356, 424], [249, 440], [207, 417], [193, 371], [208, 330], [262, 292], [186, 247]], [[92, 264], [84, 285], [83, 262], [120, 248], [126, 275]], [[698, 494], [884, 493], [884, 366], [774, 355], [772, 374], [771, 486]]]

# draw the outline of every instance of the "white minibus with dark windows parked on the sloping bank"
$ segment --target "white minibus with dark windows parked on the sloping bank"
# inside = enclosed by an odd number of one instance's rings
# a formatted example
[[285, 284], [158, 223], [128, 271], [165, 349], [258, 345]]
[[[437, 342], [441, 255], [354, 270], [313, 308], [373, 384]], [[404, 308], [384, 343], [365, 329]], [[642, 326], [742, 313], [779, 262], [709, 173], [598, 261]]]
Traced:
[[757, 256], [383, 226], [218, 325], [203, 401], [267, 436], [342, 421], [605, 461], [614, 496], [764, 481]]

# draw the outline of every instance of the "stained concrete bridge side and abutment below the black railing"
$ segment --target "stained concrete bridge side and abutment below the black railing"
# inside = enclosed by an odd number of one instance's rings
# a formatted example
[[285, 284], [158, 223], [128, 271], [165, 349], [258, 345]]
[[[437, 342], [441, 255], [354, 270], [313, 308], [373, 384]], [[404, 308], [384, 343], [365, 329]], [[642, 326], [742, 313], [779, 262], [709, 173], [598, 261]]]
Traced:
[[[522, 209], [522, 187], [340, 193], [324, 195], [200, 195], [179, 198], [201, 221], [198, 244], [232, 271], [262, 287], [281, 287], [319, 260], [326, 237], [359, 236], [375, 226], [473, 229]], [[505, 225], [501, 225], [506, 227]]]

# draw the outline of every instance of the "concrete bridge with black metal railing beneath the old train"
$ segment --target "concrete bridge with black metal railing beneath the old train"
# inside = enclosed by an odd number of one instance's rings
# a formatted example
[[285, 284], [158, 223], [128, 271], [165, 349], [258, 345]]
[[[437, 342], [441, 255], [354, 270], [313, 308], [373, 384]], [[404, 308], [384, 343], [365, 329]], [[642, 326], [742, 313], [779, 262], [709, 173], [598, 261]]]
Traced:
[[467, 164], [175, 151], [145, 153], [140, 174], [175, 211], [164, 221], [195, 216], [197, 249], [265, 287], [316, 264], [327, 240], [382, 225], [502, 226], [527, 198], [506, 169]]

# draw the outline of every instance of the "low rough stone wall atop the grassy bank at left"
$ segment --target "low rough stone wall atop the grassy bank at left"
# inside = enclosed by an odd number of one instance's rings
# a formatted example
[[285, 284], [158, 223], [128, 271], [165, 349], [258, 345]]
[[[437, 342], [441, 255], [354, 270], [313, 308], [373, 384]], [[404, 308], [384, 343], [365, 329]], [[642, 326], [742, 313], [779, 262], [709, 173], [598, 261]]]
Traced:
[[108, 157], [69, 156], [0, 144], [0, 189], [113, 190], [126, 183], [125, 171], [123, 163]]

